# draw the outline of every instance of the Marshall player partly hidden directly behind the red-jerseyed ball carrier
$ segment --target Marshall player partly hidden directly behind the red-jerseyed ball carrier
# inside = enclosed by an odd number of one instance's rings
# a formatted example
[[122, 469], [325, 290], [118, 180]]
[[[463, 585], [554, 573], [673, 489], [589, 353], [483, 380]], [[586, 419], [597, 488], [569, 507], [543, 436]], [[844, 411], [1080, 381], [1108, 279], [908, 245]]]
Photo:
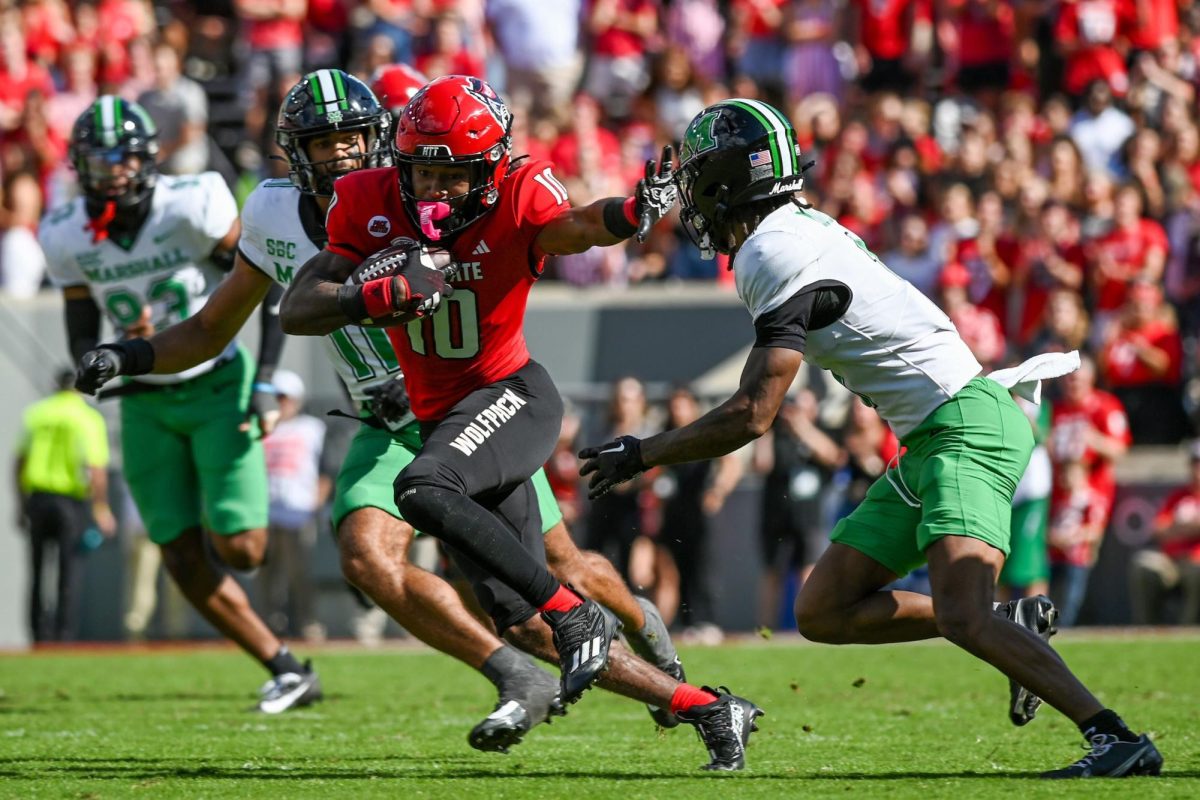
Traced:
[[[401, 91], [395, 85], [392, 90]], [[390, 130], [388, 110], [344, 72], [319, 70], [288, 92], [277, 138], [288, 157], [289, 179], [263, 181], [247, 198], [234, 269], [204, 308], [137, 345], [152, 354], [155, 373], [182, 369], [220, 351], [270, 287], [292, 282], [325, 243], [334, 180], [390, 163]], [[442, 578], [408, 563], [414, 531], [400, 517], [392, 482], [421, 441], [395, 351], [377, 327], [347, 326], [324, 343], [365, 421], [337, 476], [334, 525], [342, 571], [406, 630], [497, 685], [496, 711], [475, 726], [469, 741], [478, 750], [506, 752], [533, 726], [560, 712], [558, 680], [485, 628]], [[107, 361], [107, 353], [100, 355], [84, 366], [90, 381], [85, 391], [131, 368], [128, 360], [116, 363]], [[644, 664], [640, 672], [631, 661], [620, 662], [624, 673], [620, 666], [613, 673], [623, 674], [626, 686], [638, 687], [628, 691], [635, 697], [648, 699], [644, 686], [655, 681], [670, 697], [683, 669], [658, 609], [635, 600], [602, 557], [576, 549], [544, 473], [534, 485], [552, 571], [608, 604], [631, 631], [629, 640], [637, 652], [671, 678]], [[548, 642], [548, 630], [546, 634]], [[542, 644], [528, 637], [520, 646], [542, 655]], [[678, 724], [665, 708], [653, 708], [652, 715], [660, 724]]]

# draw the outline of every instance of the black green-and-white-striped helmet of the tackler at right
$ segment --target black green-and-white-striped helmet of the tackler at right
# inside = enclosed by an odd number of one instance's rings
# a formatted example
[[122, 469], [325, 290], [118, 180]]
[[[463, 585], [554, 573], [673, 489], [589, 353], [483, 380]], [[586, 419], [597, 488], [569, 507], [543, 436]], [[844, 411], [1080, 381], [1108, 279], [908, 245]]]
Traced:
[[680, 218], [704, 258], [727, 253], [730, 215], [751, 203], [788, 200], [804, 188], [796, 130], [758, 100], [709, 106], [688, 125], [679, 148]]

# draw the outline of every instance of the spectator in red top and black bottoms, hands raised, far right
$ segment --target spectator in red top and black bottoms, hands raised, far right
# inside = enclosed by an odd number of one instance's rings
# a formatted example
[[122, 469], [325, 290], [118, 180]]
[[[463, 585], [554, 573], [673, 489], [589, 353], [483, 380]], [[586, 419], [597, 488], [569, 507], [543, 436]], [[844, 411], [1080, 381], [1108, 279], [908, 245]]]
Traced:
[[1120, 321], [1099, 353], [1103, 383], [1121, 401], [1139, 444], [1175, 444], [1187, 420], [1180, 403], [1183, 343], [1163, 290], [1145, 279], [1129, 287]]

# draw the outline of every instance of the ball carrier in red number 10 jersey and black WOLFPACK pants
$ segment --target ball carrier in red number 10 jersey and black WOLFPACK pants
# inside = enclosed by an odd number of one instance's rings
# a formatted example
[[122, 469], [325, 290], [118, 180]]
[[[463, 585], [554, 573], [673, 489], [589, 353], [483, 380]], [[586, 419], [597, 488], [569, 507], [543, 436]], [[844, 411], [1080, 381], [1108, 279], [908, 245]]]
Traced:
[[[676, 196], [667, 151], [658, 170], [648, 164], [632, 197], [574, 209], [548, 162], [512, 161], [511, 124], [508, 107], [478, 78], [448, 76], [418, 92], [396, 126], [396, 167], [337, 181], [329, 243], [296, 273], [281, 321], [289, 333], [324, 335], [424, 308], [389, 329], [425, 441], [396, 480], [397, 505], [448, 545], [499, 631], [535, 636], [541, 612], [553, 631], [563, 699], [574, 702], [608, 663], [618, 626], [547, 572], [540, 528], [529, 524], [536, 501], [528, 479], [554, 447], [563, 404], [526, 348], [526, 301], [547, 254], [644, 236]], [[397, 275], [346, 282], [364, 259], [403, 237], [450, 252], [451, 296], [443, 273], [416, 258]], [[444, 301], [433, 308], [436, 297]], [[622, 660], [622, 675], [646, 678], [629, 662]], [[740, 769], [761, 711], [661, 674], [655, 691], [660, 679], [673, 687], [667, 696], [641, 699], [686, 710], [713, 753], [709, 768]]]

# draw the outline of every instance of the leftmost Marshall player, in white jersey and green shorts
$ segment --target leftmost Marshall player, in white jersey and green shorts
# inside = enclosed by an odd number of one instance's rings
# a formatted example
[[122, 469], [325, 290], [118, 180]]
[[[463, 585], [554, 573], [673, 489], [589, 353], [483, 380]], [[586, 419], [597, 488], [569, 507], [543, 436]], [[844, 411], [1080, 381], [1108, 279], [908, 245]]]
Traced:
[[[199, 313], [236, 245], [238, 207], [221, 176], [158, 175], [157, 150], [145, 110], [120, 97], [100, 97], [72, 128], [70, 156], [83, 193], [53, 209], [38, 237], [50, 277], [62, 288], [76, 359], [96, 351], [102, 313], [122, 336]], [[277, 321], [274, 330], [264, 333], [259, 381], [278, 359]], [[140, 341], [98, 351], [124, 359], [130, 374], [144, 373], [149, 367], [136, 367], [152, 353]], [[232, 338], [187, 369], [128, 381], [119, 390], [121, 451], [130, 491], [167, 571], [214, 627], [271, 673], [258, 708], [276, 714], [319, 699], [320, 682], [204, 548], [206, 531], [229, 566], [248, 570], [263, 560], [266, 465], [247, 421], [254, 381], [254, 365]], [[260, 421], [268, 431], [265, 414]]]

